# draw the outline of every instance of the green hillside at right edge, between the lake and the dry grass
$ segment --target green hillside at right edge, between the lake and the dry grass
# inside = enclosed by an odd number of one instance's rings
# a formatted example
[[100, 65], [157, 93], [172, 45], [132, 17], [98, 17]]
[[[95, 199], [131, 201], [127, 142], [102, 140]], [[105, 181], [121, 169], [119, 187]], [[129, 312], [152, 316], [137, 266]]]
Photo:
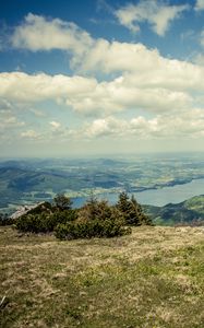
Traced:
[[180, 203], [168, 203], [165, 207], [144, 206], [155, 224], [173, 225], [192, 223], [200, 220], [204, 224], [204, 195], [195, 196]]

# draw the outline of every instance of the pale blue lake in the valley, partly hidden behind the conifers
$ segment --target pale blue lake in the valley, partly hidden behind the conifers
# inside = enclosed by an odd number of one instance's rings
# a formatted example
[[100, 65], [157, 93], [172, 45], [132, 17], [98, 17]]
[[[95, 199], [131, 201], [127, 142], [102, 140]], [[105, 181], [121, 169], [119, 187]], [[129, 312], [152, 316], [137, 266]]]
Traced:
[[[204, 179], [192, 180], [184, 185], [173, 187], [164, 187], [161, 189], [144, 190], [133, 194], [136, 200], [143, 204], [153, 204], [163, 207], [169, 202], [178, 203], [193, 196], [204, 195]], [[103, 194], [99, 199], [107, 199], [110, 203], [116, 203], [118, 194]], [[73, 199], [74, 207], [81, 207], [86, 201], [85, 197]]]

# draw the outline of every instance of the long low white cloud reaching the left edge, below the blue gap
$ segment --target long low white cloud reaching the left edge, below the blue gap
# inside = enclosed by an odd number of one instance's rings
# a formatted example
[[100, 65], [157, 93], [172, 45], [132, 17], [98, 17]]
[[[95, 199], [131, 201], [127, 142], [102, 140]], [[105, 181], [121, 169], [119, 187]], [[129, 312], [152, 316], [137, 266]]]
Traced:
[[91, 92], [97, 84], [95, 79], [83, 77], [29, 75], [23, 72], [0, 73], [0, 96], [19, 102], [67, 99], [69, 95]]

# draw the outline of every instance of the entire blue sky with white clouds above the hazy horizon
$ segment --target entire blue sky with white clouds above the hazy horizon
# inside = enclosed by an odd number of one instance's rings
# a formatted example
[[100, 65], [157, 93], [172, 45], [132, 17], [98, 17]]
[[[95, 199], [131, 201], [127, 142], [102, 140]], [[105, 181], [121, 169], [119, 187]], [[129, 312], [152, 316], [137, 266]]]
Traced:
[[204, 151], [204, 0], [0, 0], [0, 157]]

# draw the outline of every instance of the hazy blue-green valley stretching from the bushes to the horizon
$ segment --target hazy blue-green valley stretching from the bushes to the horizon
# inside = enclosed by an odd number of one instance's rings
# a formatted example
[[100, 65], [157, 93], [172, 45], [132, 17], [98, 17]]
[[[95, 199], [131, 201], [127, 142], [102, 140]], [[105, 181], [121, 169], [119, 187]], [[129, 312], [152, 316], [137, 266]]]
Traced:
[[[64, 192], [83, 202], [91, 192], [115, 202], [119, 192], [140, 194], [141, 203], [158, 206], [149, 190], [184, 186], [204, 178], [203, 154], [157, 154], [117, 159], [47, 159], [0, 161], [0, 211], [12, 212], [21, 204], [51, 200]], [[192, 194], [194, 195], [203, 194]], [[194, 187], [197, 191], [197, 187]], [[193, 191], [193, 192], [194, 192]], [[146, 194], [145, 194], [146, 192]], [[161, 192], [160, 192], [161, 194]], [[145, 199], [143, 199], [145, 196]], [[175, 192], [171, 192], [175, 195]], [[164, 202], [171, 202], [166, 199]], [[180, 202], [175, 195], [173, 202]], [[166, 204], [163, 203], [163, 204]], [[80, 203], [81, 204], [81, 203]]]

